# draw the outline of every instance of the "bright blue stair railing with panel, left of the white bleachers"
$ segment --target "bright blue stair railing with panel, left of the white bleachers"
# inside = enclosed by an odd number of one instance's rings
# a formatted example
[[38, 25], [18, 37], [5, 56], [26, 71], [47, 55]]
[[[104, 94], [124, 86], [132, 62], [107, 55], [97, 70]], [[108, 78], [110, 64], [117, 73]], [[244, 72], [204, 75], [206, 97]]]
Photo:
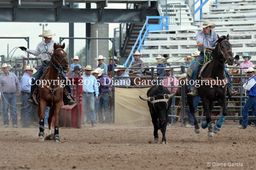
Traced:
[[[164, 18], [165, 18], [165, 24], [163, 24]], [[160, 19], [160, 24], [148, 24], [148, 19]], [[129, 62], [131, 57], [132, 57], [132, 61], [134, 60], [134, 57], [132, 56], [132, 54], [134, 53], [134, 49], [136, 48], [138, 43], [139, 43], [139, 46], [136, 51], [140, 52], [140, 49], [143, 48], [141, 46], [141, 44], [143, 43], [144, 40], [146, 40], [145, 37], [148, 36], [148, 31], [162, 31], [163, 27], [165, 27], [165, 30], [168, 30], [168, 16], [147, 16], [146, 17], [145, 24], [143, 25], [142, 29], [140, 30], [140, 34], [139, 34], [134, 46], [132, 46], [131, 53], [129, 54], [126, 62], [123, 64], [124, 67], [127, 67], [127, 63]], [[142, 36], [143, 32], [144, 32], [144, 34]], [[141, 38], [141, 36], [142, 36], [142, 38]], [[132, 62], [129, 64], [129, 66], [131, 66], [131, 65], [132, 65]]]

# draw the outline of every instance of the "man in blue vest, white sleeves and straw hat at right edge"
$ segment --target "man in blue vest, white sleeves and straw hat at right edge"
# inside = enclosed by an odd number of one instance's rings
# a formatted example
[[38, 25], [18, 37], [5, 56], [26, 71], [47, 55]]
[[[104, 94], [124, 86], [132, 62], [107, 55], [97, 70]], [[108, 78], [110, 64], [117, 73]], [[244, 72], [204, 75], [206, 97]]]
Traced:
[[249, 67], [247, 70], [245, 70], [247, 73], [248, 81], [244, 83], [243, 88], [245, 89], [248, 99], [246, 100], [244, 107], [243, 107], [243, 122], [240, 126], [237, 126], [239, 129], [246, 129], [248, 124], [248, 113], [249, 109], [252, 109], [252, 114], [256, 115], [256, 77], [255, 72], [252, 67]]

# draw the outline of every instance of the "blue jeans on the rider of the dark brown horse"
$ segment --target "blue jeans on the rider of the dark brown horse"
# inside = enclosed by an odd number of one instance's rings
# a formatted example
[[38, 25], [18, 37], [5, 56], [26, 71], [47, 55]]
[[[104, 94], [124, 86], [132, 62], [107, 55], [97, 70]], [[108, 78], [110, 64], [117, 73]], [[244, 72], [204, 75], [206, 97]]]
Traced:
[[[190, 78], [190, 81], [189, 81], [188, 89], [191, 89], [191, 87], [192, 87], [192, 85], [193, 85], [192, 83], [195, 82], [196, 76], [197, 76], [197, 74], [198, 74], [198, 71], [199, 71], [200, 67], [202, 66], [201, 63], [202, 63], [203, 60], [204, 60], [204, 53], [200, 52], [199, 57], [197, 58], [197, 62], [196, 62], [196, 64], [195, 64], [194, 68], [193, 68], [193, 72], [192, 72], [192, 75], [191, 75], [191, 78]], [[200, 64], [199, 64], [199, 63], [200, 63]], [[231, 80], [230, 80], [230, 77], [229, 77], [229, 74], [228, 74], [228, 70], [227, 70], [226, 67], [224, 68], [224, 72], [225, 72], [226, 77], [228, 78], [228, 83], [229, 83], [229, 85], [230, 85], [230, 86], [232, 87], [232, 89], [233, 89], [233, 85], [232, 85], [232, 83], [231, 83]], [[191, 80], [193, 80], [193, 81], [191, 81]]]

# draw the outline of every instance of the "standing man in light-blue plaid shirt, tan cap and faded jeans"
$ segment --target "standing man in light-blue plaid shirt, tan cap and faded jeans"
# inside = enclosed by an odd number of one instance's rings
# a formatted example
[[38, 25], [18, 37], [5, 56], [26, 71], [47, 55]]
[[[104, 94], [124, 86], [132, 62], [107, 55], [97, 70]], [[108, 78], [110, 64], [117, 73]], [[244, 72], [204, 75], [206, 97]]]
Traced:
[[83, 96], [82, 96], [82, 103], [83, 103], [83, 125], [85, 125], [85, 109], [86, 104], [88, 104], [87, 114], [90, 114], [89, 117], [91, 118], [92, 126], [97, 126], [96, 122], [96, 114], [94, 111], [95, 103], [94, 103], [94, 92], [95, 92], [95, 100], [98, 100], [99, 95], [99, 88], [96, 86], [98, 85], [97, 80], [94, 76], [91, 75], [92, 67], [87, 65], [85, 67], [85, 74], [81, 77], [83, 78]]

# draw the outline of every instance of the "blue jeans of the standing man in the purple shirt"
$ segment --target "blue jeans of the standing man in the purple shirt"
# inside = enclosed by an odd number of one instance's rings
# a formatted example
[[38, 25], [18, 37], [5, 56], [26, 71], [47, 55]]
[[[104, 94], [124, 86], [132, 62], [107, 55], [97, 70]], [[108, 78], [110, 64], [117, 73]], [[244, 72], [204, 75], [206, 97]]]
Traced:
[[109, 112], [109, 98], [108, 93], [101, 94], [100, 96], [100, 103], [98, 108], [98, 116], [99, 122], [103, 122], [103, 109], [105, 114], [105, 122], [109, 122], [110, 120], [110, 112]]

